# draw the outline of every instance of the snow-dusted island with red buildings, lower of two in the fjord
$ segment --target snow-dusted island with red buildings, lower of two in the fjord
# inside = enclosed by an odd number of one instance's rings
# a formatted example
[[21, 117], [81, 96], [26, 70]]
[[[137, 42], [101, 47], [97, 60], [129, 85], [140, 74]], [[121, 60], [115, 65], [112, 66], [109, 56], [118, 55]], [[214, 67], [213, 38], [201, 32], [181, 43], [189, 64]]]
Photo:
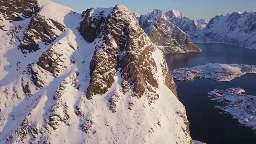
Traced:
[[225, 91], [214, 90], [208, 94], [209, 97], [222, 95], [212, 99], [223, 102], [224, 106], [215, 106], [221, 111], [220, 114], [231, 114], [241, 125], [256, 130], [256, 96], [242, 94], [243, 92], [245, 90], [242, 88], [229, 88]]

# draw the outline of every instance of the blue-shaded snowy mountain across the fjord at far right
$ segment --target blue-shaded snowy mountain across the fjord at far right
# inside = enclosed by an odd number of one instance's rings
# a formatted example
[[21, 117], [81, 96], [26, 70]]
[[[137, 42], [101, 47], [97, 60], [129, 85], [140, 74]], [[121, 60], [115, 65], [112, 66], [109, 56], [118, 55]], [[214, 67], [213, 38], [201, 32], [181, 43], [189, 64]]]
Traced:
[[256, 49], [256, 12], [233, 12], [223, 16], [218, 14], [203, 30], [203, 43], [224, 43], [243, 48]]

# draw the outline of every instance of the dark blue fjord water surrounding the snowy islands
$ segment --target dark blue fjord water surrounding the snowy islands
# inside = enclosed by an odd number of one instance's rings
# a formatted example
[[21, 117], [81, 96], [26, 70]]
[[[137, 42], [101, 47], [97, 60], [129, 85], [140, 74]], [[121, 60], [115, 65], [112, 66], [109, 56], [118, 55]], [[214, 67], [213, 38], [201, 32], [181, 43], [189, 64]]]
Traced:
[[[256, 65], [256, 50], [226, 44], [197, 45], [202, 52], [166, 54], [169, 68], [191, 68], [207, 63]], [[230, 115], [219, 114], [214, 106], [221, 102], [212, 101], [207, 95], [213, 89], [240, 87], [246, 90], [246, 94], [256, 96], [256, 74], [246, 74], [230, 82], [214, 82], [209, 79], [175, 82], [179, 100], [186, 107], [190, 134], [194, 140], [207, 144], [256, 144], [256, 133], [239, 125]]]

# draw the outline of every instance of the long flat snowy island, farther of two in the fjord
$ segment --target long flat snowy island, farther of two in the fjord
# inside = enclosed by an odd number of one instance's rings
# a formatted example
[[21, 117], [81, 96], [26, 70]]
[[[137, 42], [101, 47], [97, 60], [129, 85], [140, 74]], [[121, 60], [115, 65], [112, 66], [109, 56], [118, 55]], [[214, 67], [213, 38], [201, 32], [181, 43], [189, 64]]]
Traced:
[[255, 65], [248, 64], [205, 64], [193, 68], [171, 70], [176, 80], [192, 81], [196, 78], [209, 78], [216, 81], [230, 81], [244, 74], [256, 73]]

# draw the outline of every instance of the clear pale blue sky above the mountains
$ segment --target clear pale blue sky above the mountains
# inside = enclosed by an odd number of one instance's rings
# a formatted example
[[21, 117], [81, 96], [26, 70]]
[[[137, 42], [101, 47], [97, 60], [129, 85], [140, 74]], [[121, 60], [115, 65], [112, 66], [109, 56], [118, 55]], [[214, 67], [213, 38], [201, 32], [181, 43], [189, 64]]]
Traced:
[[256, 0], [52, 0], [66, 5], [76, 12], [83, 12], [91, 7], [114, 7], [123, 4], [131, 11], [145, 14], [160, 9], [163, 12], [178, 10], [183, 16], [198, 20], [210, 19], [216, 14], [237, 11], [256, 11]]

